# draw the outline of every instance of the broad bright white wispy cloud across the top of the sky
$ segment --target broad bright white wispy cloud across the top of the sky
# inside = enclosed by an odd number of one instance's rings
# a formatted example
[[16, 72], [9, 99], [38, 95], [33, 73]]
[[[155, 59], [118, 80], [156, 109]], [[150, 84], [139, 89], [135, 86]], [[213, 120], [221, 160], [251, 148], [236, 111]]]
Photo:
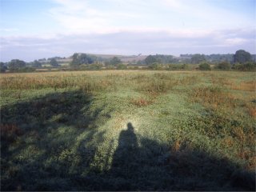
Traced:
[[186, 0], [53, 0], [50, 15], [73, 33], [111, 33], [120, 30], [219, 30], [251, 26], [252, 19], [210, 5]]

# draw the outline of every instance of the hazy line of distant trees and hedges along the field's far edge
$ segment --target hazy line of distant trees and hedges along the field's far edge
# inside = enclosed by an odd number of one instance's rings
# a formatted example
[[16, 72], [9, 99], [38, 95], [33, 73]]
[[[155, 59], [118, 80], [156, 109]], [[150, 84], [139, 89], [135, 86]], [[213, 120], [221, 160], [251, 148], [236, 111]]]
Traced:
[[[235, 54], [181, 54], [180, 57], [172, 55], [155, 54], [148, 55], [142, 61], [134, 63], [134, 69], [144, 66], [150, 70], [188, 70], [188, 64], [197, 64], [198, 70], [256, 70], [255, 55], [246, 50], [237, 50]], [[43, 58], [34, 62], [24, 62], [12, 59], [10, 62], [0, 62], [0, 71], [6, 72], [30, 72], [48, 65], [51, 68], [61, 66], [60, 57]], [[101, 70], [118, 69], [126, 70], [127, 63], [123, 63], [118, 57], [101, 58], [91, 54], [75, 53], [70, 57], [70, 70]]]

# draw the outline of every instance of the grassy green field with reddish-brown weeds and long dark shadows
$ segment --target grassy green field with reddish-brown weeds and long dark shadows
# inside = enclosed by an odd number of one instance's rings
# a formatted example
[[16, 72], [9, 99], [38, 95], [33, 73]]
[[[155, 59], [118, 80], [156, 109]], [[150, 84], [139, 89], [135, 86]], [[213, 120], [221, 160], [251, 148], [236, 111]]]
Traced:
[[250, 72], [1, 74], [2, 190], [254, 190]]

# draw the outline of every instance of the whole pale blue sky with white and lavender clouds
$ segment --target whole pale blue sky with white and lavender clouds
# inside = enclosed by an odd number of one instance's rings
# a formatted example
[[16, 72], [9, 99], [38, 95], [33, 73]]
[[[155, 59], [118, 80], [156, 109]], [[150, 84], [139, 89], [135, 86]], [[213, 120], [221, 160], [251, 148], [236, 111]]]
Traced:
[[255, 0], [0, 0], [0, 61], [256, 54]]

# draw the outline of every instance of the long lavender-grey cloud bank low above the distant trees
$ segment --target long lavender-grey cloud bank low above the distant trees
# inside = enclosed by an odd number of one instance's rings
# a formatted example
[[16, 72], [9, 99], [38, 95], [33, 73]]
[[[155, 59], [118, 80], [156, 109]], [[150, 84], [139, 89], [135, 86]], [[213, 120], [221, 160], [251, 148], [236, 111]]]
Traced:
[[[13, 37], [1, 38], [2, 60], [9, 61], [13, 54], [26, 61], [53, 56], [70, 56], [74, 52], [92, 54], [174, 54], [182, 53], [234, 53], [245, 49], [255, 50], [255, 30], [202, 31], [202, 35], [185, 37], [184, 34], [168, 31], [117, 32], [109, 34], [68, 34], [52, 38]], [[237, 37], [237, 38], [234, 38]], [[11, 53], [11, 54], [10, 54]]]

